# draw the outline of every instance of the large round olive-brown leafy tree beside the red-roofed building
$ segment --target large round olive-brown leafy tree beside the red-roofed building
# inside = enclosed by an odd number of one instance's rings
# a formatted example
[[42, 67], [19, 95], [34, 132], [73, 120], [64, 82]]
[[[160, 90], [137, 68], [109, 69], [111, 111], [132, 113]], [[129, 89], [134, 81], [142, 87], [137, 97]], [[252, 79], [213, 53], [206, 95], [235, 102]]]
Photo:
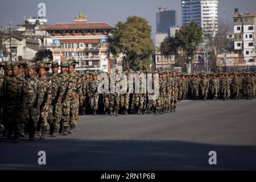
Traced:
[[129, 16], [125, 23], [118, 22], [116, 27], [110, 39], [110, 51], [115, 57], [121, 57], [123, 69], [147, 67], [145, 60], [154, 53], [152, 28], [148, 21], [139, 16]]

